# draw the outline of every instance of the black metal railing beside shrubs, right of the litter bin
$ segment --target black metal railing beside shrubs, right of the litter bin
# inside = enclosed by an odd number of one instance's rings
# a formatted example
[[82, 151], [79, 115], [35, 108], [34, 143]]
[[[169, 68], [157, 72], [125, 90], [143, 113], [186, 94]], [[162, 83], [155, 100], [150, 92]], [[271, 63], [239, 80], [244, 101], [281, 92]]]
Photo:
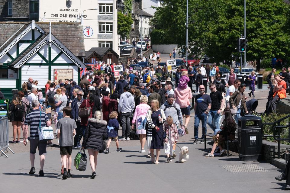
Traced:
[[[285, 120], [288, 123], [288, 125], [281, 125], [281, 122], [285, 121]], [[273, 135], [264, 135], [264, 133], [263, 133], [264, 125], [272, 125], [273, 126]], [[281, 145], [280, 141], [289, 141], [290, 140], [290, 137], [288, 137], [289, 139], [288, 138], [287, 139], [281, 138], [281, 134], [284, 134], [285, 130], [282, 130], [282, 133], [281, 133], [280, 129], [287, 128], [287, 127], [288, 127], [288, 136], [289, 136], [289, 134], [290, 134], [290, 115], [287, 115], [286, 117], [282, 117], [273, 123], [262, 123], [262, 125], [261, 125], [263, 137], [273, 137], [274, 140], [278, 141], [278, 159], [280, 159], [280, 145]], [[274, 133], [276, 133], [276, 129], [278, 129], [278, 133], [274, 134]]]

